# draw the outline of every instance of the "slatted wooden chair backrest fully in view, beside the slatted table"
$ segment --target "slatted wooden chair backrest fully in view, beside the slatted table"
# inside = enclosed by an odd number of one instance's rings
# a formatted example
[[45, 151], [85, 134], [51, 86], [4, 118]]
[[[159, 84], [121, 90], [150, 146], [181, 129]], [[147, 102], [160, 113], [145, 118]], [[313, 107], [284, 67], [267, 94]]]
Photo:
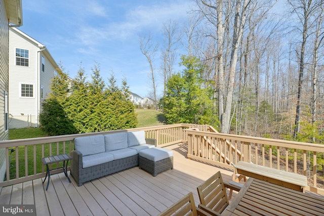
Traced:
[[198, 186], [197, 191], [200, 203], [219, 214], [229, 205], [220, 171]]

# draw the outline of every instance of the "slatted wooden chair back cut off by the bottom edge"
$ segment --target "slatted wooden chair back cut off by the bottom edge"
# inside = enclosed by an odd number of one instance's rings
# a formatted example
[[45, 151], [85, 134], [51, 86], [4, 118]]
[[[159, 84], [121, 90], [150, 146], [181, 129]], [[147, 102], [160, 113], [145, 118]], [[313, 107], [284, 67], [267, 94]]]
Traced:
[[197, 216], [197, 209], [194, 204], [192, 192], [188, 193], [185, 197], [180, 199], [178, 202], [170, 206], [164, 212], [160, 213], [159, 216], [169, 215], [194, 215]]

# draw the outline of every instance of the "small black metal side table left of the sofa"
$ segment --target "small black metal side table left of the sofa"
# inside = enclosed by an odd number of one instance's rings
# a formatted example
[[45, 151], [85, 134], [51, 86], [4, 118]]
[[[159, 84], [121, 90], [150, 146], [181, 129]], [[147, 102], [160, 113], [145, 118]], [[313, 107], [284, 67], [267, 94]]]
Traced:
[[[72, 157], [70, 155], [68, 155], [68, 154], [59, 154], [59, 155], [55, 155], [55, 156], [43, 157], [42, 158], [43, 165], [46, 165], [46, 177], [45, 177], [45, 179], [43, 181], [43, 184], [44, 184], [47, 176], [49, 176], [49, 179], [47, 181], [46, 190], [49, 188], [50, 176], [55, 175], [55, 174], [59, 174], [61, 172], [64, 172], [65, 176], [67, 177], [67, 179], [71, 183], [70, 178], [67, 176], [67, 163], [69, 162], [70, 159], [72, 159]], [[50, 169], [49, 168], [49, 164], [60, 162], [60, 161], [63, 161], [63, 167], [58, 167], [58, 168], [55, 168], [55, 169]], [[63, 171], [58, 171], [58, 172], [55, 172], [53, 174], [50, 174], [50, 171], [56, 170], [56, 169], [61, 169], [61, 168], [63, 168]]]

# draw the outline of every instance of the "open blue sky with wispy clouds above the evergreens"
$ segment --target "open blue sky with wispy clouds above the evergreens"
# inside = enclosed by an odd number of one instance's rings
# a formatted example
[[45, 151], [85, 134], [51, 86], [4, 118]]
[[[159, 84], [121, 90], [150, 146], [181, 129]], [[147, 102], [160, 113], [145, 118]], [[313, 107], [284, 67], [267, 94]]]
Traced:
[[[44, 44], [56, 62], [74, 78], [80, 62], [88, 78], [95, 61], [107, 82], [111, 71], [120, 86], [123, 76], [130, 90], [148, 96], [149, 65], [139, 49], [139, 35], [151, 32], [162, 43], [161, 25], [172, 19], [182, 26], [192, 1], [166, 0], [24, 0], [19, 29]], [[180, 57], [178, 57], [178, 60]], [[154, 66], [160, 67], [160, 53]], [[161, 95], [163, 83], [158, 83]]]

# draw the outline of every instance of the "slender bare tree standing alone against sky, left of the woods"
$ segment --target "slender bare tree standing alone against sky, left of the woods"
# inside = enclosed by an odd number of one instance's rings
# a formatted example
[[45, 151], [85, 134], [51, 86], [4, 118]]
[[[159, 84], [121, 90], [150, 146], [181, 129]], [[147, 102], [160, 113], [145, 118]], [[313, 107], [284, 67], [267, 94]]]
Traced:
[[156, 81], [155, 81], [155, 71], [153, 67], [153, 60], [155, 53], [157, 52], [158, 44], [152, 42], [151, 34], [147, 36], [140, 35], [140, 50], [142, 54], [146, 57], [147, 62], [150, 66], [150, 80], [152, 85], [152, 94], [154, 99], [154, 107], [157, 105], [157, 97], [156, 97]]

